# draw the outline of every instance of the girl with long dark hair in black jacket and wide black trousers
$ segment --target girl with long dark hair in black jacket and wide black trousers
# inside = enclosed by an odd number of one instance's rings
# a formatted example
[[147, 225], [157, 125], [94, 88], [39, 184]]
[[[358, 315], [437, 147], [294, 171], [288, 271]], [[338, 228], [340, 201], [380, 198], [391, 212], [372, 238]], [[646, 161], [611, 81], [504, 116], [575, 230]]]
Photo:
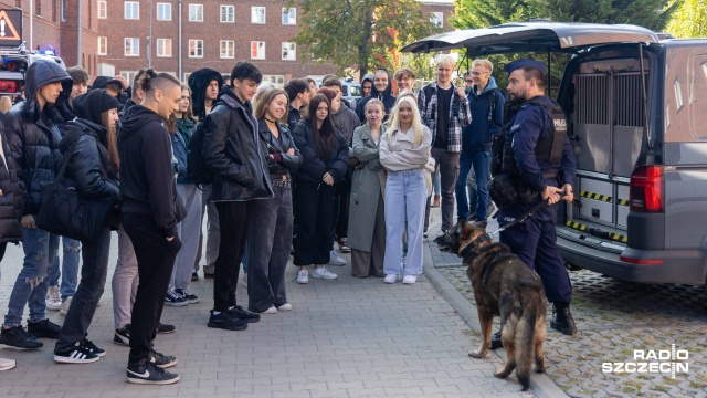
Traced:
[[335, 185], [346, 175], [349, 147], [331, 118], [331, 103], [324, 94], [309, 102], [308, 114], [295, 130], [295, 145], [302, 153], [302, 167], [297, 175], [295, 197], [295, 259], [299, 266], [297, 283], [309, 283], [312, 277], [335, 280], [325, 264], [330, 260], [334, 242]]

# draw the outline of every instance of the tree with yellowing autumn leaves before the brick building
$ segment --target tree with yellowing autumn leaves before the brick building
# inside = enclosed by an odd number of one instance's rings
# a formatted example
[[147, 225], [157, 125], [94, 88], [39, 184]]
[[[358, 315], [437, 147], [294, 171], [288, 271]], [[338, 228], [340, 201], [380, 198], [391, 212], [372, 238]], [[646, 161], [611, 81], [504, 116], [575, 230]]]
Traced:
[[297, 7], [299, 33], [294, 41], [317, 62], [341, 71], [400, 64], [398, 49], [439, 32], [415, 0], [285, 0]]

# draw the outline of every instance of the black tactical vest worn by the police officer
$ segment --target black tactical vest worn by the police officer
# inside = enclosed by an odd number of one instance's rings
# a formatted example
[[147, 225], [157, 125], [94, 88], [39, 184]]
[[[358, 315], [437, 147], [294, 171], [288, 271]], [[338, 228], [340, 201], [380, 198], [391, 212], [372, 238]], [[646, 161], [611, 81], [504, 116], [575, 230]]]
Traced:
[[[551, 101], [551, 104], [548, 104], [546, 101], [532, 98], [526, 102], [521, 106], [521, 108], [524, 106], [527, 106], [528, 104], [542, 106], [552, 121], [552, 134], [547, 137], [538, 138], [538, 142], [535, 145], [535, 157], [551, 165], [559, 165], [562, 160], [562, 149], [564, 147], [564, 139], [567, 137], [567, 118], [564, 116], [564, 112], [562, 112], [560, 105], [558, 105], [553, 101]], [[514, 156], [511, 145], [513, 139], [507, 139], [503, 145], [502, 172], [508, 175], [519, 175], [520, 171], [518, 170], [518, 165], [516, 164], [516, 158]], [[542, 176], [545, 178], [555, 178], [557, 177], [557, 174], [544, 174]]]

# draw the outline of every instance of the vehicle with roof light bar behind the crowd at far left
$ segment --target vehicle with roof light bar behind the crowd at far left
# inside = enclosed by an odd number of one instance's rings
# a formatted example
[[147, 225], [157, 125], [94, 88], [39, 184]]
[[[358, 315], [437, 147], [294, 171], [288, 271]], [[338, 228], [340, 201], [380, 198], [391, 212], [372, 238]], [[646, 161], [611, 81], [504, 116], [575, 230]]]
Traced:
[[24, 73], [36, 60], [56, 62], [66, 69], [64, 61], [54, 55], [53, 51], [27, 51], [23, 45], [20, 48], [0, 46], [0, 95], [20, 95], [24, 86]]

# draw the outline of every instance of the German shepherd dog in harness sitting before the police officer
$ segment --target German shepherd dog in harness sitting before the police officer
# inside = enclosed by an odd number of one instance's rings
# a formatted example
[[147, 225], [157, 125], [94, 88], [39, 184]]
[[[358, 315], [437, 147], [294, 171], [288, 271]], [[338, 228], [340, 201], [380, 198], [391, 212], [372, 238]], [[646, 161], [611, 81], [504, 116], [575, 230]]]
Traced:
[[434, 242], [441, 251], [454, 252], [468, 266], [466, 274], [474, 289], [482, 326], [482, 345], [468, 355], [483, 358], [490, 347], [494, 315], [500, 316], [502, 342], [508, 359], [494, 376], [506, 378], [513, 369], [526, 391], [530, 367], [546, 370], [542, 355], [546, 325], [546, 297], [540, 277], [503, 243], [493, 243], [486, 222], [461, 220]]

